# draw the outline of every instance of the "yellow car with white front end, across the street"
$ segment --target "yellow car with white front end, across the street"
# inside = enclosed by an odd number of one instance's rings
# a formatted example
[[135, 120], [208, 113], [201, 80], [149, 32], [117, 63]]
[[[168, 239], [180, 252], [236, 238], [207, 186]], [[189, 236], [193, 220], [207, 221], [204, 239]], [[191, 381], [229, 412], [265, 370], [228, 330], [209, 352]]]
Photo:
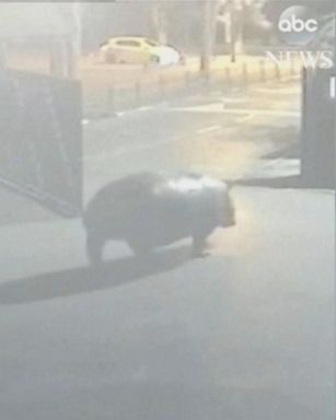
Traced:
[[161, 66], [183, 63], [183, 56], [169, 45], [140, 36], [109, 38], [100, 47], [104, 62]]

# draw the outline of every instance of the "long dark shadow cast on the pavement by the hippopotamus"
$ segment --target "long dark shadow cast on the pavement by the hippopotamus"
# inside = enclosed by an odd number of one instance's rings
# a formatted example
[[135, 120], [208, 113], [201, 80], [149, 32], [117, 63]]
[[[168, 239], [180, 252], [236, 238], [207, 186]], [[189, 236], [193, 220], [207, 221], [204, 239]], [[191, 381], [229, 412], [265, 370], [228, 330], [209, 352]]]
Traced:
[[170, 271], [189, 259], [188, 246], [148, 257], [127, 257], [105, 262], [101, 268], [80, 267], [43, 273], [0, 284], [0, 305], [23, 304], [116, 288], [146, 277]]

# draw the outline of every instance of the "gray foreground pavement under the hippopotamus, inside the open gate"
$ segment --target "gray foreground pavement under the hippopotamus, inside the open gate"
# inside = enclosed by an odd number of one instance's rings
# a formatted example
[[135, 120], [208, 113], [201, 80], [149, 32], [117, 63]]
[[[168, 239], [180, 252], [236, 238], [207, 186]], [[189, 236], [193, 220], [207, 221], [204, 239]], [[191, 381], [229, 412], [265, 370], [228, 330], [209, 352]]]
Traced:
[[101, 275], [76, 222], [11, 231], [2, 272], [53, 273], [0, 283], [1, 417], [333, 420], [334, 195], [234, 199], [208, 258], [112, 244]]

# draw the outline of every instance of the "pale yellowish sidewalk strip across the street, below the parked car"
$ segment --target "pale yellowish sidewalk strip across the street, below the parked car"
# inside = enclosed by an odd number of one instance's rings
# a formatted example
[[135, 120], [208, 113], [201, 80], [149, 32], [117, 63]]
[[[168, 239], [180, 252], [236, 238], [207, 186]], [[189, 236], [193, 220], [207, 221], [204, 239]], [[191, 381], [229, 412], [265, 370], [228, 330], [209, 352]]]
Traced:
[[301, 67], [276, 66], [266, 56], [216, 57], [208, 74], [199, 71], [199, 59], [189, 58], [186, 66], [150, 67], [92, 65], [83, 62], [84, 115], [108, 116], [127, 108], [161, 103], [176, 96], [210, 93], [211, 90], [247, 88], [250, 84], [287, 80], [301, 73]]

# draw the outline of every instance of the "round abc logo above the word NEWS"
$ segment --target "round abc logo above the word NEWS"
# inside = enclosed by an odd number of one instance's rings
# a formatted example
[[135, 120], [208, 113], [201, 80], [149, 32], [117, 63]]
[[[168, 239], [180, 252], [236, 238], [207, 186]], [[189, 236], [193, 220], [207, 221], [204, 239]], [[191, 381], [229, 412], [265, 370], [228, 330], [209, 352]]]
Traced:
[[303, 5], [293, 5], [281, 13], [278, 23], [280, 36], [288, 44], [306, 45], [318, 31], [318, 21]]

